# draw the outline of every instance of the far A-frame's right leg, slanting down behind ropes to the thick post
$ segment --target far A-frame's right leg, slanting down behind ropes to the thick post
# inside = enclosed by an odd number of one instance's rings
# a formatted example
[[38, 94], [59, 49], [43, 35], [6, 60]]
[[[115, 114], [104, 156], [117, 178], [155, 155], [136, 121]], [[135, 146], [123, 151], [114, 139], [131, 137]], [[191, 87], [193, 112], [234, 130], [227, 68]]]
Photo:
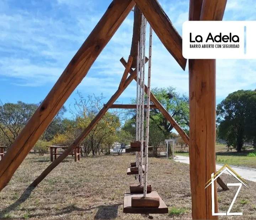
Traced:
[[[121, 63], [126, 66], [126, 60], [124, 58], [120, 59]], [[134, 79], [137, 80], [137, 79]], [[148, 92], [148, 87], [145, 85], [145, 93]], [[182, 139], [185, 141], [186, 144], [189, 145], [189, 138], [187, 134], [183, 131], [183, 129], [178, 125], [178, 123], [171, 117], [169, 112], [162, 106], [162, 104], [158, 101], [158, 99], [154, 96], [152, 92], [150, 92], [150, 101], [153, 102], [156, 108], [164, 115], [164, 117], [171, 123], [171, 125], [175, 128], [175, 130], [180, 134]]]

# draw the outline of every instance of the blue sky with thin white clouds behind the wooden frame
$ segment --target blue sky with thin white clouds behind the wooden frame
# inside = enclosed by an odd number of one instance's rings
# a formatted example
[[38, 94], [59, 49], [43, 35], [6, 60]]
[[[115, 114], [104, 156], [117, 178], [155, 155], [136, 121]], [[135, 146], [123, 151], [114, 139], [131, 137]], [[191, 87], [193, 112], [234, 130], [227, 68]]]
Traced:
[[[110, 2], [0, 0], [0, 100], [42, 101]], [[188, 20], [189, 0], [159, 2], [181, 34], [182, 23]], [[255, 0], [228, 0], [224, 20], [256, 20], [255, 8]], [[84, 96], [102, 92], [106, 101], [117, 90], [124, 70], [119, 59], [128, 58], [132, 28], [130, 12], [65, 106], [74, 103], [77, 90]], [[188, 94], [188, 66], [183, 71], [155, 34], [152, 59], [153, 87], [174, 86]], [[255, 76], [255, 60], [217, 60], [217, 103], [230, 92], [255, 89]], [[135, 94], [132, 82], [118, 101], [129, 103]]]

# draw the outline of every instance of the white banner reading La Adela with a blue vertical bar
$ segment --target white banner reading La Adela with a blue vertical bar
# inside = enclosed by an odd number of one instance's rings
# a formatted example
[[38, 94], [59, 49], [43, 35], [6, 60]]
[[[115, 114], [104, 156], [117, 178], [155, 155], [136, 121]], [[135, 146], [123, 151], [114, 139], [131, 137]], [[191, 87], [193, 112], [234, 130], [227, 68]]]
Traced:
[[256, 59], [256, 21], [186, 21], [182, 54], [187, 59]]

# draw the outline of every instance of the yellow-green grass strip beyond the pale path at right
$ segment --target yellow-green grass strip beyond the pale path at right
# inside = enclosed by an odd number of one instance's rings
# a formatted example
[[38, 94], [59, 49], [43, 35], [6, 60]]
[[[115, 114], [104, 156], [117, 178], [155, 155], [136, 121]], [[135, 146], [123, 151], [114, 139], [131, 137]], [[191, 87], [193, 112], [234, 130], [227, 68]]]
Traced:
[[[189, 156], [187, 150], [184, 152], [180, 151], [180, 148], [177, 147], [179, 152], [176, 152], [177, 155]], [[176, 150], [177, 150], [176, 149]], [[255, 152], [253, 149], [247, 149], [242, 151], [241, 153], [236, 152], [236, 150], [232, 150], [227, 152], [225, 145], [216, 144], [216, 155], [217, 155], [217, 163], [228, 165], [236, 165], [236, 166], [247, 166], [256, 168], [256, 157], [247, 156], [250, 152]]]

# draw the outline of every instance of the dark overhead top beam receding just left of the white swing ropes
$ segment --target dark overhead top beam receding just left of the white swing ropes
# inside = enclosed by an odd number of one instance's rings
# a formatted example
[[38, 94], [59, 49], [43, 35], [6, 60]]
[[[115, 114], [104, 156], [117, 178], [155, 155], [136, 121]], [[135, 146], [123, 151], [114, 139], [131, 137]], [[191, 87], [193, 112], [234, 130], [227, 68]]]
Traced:
[[130, 55], [134, 58], [132, 68], [137, 67], [137, 54], [138, 54], [138, 41], [140, 40], [140, 25], [141, 25], [142, 12], [138, 6], [134, 6], [134, 19], [133, 19], [133, 37]]

